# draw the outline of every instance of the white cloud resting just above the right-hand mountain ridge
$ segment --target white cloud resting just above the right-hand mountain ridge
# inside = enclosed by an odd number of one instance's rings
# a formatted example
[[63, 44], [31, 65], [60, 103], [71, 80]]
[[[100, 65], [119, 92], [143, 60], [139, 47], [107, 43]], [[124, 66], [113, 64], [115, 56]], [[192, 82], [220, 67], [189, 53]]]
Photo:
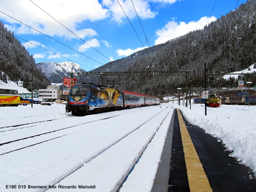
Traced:
[[[180, 21], [179, 24], [175, 21], [169, 21], [164, 26], [164, 28], [158, 29], [156, 31], [156, 36], [158, 36], [158, 37], [155, 40], [155, 45], [165, 43], [168, 40], [179, 37], [181, 35], [185, 35], [189, 31], [193, 31], [196, 29], [202, 29], [206, 25], [208, 19], [209, 19], [209, 17], [202, 17], [198, 21], [189, 21], [188, 23]], [[216, 20], [216, 17], [212, 16], [212, 17], [210, 17], [208, 23], [215, 21], [215, 20]]]

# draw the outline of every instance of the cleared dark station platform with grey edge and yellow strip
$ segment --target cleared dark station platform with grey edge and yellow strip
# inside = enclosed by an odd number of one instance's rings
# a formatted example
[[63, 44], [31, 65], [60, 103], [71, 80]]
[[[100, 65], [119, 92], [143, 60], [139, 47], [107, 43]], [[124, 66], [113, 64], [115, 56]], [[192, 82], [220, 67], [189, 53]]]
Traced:
[[151, 192], [256, 191], [253, 172], [174, 109]]

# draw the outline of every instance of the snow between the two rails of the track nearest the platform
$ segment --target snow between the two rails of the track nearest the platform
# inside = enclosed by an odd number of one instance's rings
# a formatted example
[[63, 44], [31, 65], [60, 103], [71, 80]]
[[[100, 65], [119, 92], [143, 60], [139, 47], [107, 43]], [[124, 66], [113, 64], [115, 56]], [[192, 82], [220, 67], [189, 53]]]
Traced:
[[[119, 191], [169, 113], [170, 110], [166, 109], [157, 113], [54, 185], [70, 186], [91, 182], [97, 186], [97, 189], [93, 189], [94, 191]], [[97, 183], [95, 184], [95, 182]], [[46, 190], [56, 191], [56, 189]], [[57, 189], [57, 191], [61, 191], [61, 189]], [[69, 191], [79, 191], [79, 189]]]

